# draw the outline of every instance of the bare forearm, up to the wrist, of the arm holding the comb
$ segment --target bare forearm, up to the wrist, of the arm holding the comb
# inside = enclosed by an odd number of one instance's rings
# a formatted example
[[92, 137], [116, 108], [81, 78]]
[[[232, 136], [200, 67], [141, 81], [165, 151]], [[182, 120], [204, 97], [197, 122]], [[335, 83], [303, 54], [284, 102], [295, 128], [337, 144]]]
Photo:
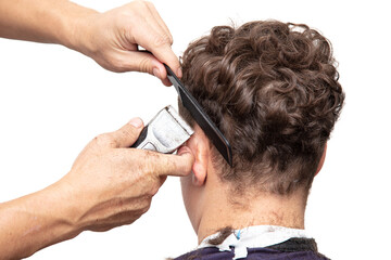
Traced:
[[79, 21], [96, 13], [66, 0], [0, 0], [0, 37], [76, 49]]

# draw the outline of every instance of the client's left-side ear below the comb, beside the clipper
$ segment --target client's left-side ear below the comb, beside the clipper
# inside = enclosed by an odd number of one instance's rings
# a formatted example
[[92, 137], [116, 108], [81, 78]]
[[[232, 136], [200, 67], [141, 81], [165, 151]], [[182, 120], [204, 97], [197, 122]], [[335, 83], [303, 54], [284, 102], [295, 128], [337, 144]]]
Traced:
[[206, 181], [207, 164], [211, 151], [209, 139], [199, 126], [194, 126], [194, 133], [187, 141], [187, 146], [192, 151], [195, 157], [192, 166], [192, 183], [195, 186], [202, 186]]

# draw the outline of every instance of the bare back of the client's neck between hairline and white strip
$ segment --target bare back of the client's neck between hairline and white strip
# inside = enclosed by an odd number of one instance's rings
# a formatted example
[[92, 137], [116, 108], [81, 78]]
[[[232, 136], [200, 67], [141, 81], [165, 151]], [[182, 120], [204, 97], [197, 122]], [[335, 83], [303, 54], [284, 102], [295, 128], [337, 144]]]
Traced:
[[229, 188], [216, 188], [215, 184], [212, 187], [205, 187], [207, 202], [204, 202], [198, 226], [199, 243], [227, 226], [234, 230], [251, 225], [304, 229], [306, 196], [303, 192], [289, 196], [257, 192], [256, 195], [244, 195], [234, 200], [232, 193], [227, 192]]

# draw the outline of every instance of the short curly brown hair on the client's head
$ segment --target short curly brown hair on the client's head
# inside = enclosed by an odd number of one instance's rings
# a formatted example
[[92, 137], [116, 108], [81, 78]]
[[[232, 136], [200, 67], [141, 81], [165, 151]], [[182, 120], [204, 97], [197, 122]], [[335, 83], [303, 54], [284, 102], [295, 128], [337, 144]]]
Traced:
[[325, 37], [277, 21], [217, 26], [189, 44], [181, 65], [185, 86], [231, 144], [232, 168], [213, 150], [223, 181], [280, 195], [311, 187], [344, 101]]

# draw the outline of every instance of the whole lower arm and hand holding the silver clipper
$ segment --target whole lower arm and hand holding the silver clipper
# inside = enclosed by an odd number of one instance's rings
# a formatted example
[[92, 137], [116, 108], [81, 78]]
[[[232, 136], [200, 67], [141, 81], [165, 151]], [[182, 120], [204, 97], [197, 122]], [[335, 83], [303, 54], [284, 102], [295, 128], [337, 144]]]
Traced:
[[142, 127], [136, 118], [94, 138], [60, 181], [0, 204], [0, 259], [28, 257], [83, 231], [130, 224], [167, 176], [189, 174], [193, 156], [186, 146], [177, 156], [128, 148]]

